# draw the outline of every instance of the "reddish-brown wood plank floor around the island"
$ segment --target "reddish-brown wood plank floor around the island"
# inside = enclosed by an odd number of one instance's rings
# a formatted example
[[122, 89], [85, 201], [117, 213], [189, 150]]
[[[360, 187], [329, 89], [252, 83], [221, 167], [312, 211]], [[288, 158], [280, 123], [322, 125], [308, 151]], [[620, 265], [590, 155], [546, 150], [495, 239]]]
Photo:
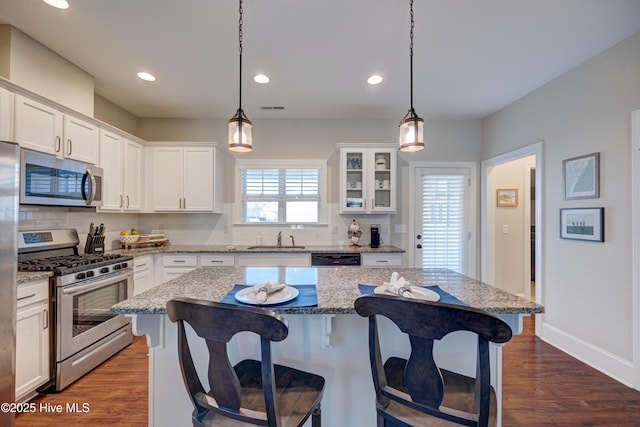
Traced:
[[[143, 338], [40, 403], [88, 403], [89, 412], [22, 414], [17, 427], [147, 425]], [[533, 335], [533, 318], [503, 350], [503, 426], [640, 427], [640, 391], [626, 387]], [[182, 386], [182, 384], [180, 384]], [[189, 414], [185, 415], [188, 425]], [[348, 426], [329, 426], [348, 427]]]

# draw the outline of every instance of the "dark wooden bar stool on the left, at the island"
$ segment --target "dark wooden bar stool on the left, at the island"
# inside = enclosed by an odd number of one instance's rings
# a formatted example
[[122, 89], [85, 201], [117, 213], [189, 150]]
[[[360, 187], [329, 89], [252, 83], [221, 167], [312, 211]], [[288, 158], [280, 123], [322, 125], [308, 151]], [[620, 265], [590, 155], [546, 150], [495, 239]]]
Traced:
[[[312, 425], [320, 427], [324, 378], [272, 363], [271, 342], [284, 340], [289, 332], [280, 315], [258, 307], [190, 298], [169, 301], [167, 314], [178, 322], [178, 355], [194, 406], [194, 426], [289, 427], [300, 426], [311, 416]], [[185, 322], [209, 350], [208, 392], [196, 372]], [[227, 343], [241, 331], [260, 336], [262, 360], [247, 359], [232, 366]]]

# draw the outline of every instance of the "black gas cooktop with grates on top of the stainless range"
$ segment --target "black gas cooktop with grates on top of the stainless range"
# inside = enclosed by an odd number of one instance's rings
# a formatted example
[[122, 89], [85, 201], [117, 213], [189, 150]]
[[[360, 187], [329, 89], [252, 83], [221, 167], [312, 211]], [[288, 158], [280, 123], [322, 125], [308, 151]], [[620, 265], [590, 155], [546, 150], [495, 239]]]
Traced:
[[19, 271], [53, 271], [55, 274], [66, 274], [79, 269], [99, 267], [117, 261], [131, 259], [117, 254], [83, 254], [63, 255], [52, 258], [32, 259], [18, 262]]

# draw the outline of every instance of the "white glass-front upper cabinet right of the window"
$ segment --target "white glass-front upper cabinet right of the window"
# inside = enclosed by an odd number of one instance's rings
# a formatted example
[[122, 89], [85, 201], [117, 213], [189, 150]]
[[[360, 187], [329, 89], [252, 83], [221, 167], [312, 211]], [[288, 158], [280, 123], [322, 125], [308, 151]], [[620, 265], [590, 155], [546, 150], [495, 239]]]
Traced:
[[396, 212], [396, 148], [340, 148], [340, 213]]

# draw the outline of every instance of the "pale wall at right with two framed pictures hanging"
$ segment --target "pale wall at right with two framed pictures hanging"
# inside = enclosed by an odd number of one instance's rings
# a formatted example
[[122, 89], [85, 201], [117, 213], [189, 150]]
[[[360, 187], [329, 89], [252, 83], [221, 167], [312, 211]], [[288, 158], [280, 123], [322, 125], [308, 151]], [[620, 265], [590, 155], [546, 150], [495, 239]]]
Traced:
[[[544, 141], [543, 337], [631, 383], [630, 112], [640, 33], [483, 121], [482, 158]], [[562, 199], [562, 160], [600, 152], [600, 198]], [[558, 237], [559, 209], [605, 208], [605, 242]], [[637, 364], [638, 361], [635, 361]]]

